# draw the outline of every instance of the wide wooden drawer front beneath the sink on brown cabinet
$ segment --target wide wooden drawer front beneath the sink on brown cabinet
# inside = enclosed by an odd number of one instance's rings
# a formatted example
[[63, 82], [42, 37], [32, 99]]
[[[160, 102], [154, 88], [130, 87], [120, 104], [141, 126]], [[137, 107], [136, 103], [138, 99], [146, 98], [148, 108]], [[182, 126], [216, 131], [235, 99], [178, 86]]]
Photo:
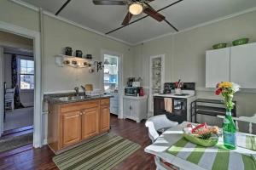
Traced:
[[61, 112], [79, 111], [87, 108], [98, 107], [99, 100], [77, 102], [73, 104], [61, 105]]

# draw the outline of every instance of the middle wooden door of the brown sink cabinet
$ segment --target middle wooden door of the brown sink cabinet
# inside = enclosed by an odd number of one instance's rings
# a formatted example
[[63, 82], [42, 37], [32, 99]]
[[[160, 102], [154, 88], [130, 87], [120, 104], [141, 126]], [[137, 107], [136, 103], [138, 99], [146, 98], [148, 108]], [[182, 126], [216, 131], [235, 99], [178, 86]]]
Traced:
[[99, 133], [98, 107], [85, 109], [82, 115], [82, 139], [88, 139]]

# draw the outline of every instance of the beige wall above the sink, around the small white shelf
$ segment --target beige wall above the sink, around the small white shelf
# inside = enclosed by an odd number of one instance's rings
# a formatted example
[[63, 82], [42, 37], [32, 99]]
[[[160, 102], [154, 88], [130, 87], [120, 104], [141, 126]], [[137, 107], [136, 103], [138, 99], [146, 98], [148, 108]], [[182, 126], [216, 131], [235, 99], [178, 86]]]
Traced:
[[[0, 2], [0, 20], [39, 31], [39, 14], [32, 9], [22, 7], [8, 0]], [[96, 33], [72, 26], [61, 20], [44, 14], [44, 56], [43, 58], [43, 92], [73, 90], [75, 86], [92, 83], [102, 88], [102, 77], [99, 73], [90, 74], [88, 69], [74, 69], [55, 65], [55, 55], [63, 54], [65, 47], [81, 49], [84, 54], [92, 54], [94, 59], [101, 59], [101, 50], [123, 54], [124, 77], [131, 76], [132, 51], [130, 46], [117, 42]], [[0, 35], [1, 36], [1, 35]], [[125, 78], [124, 78], [125, 82]]]

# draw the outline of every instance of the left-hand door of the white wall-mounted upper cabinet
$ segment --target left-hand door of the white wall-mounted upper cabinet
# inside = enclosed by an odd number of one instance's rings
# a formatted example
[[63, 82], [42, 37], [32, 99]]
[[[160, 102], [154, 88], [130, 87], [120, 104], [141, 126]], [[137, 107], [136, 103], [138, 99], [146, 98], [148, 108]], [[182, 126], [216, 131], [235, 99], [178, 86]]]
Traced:
[[206, 88], [215, 88], [218, 82], [230, 82], [230, 48], [207, 51]]

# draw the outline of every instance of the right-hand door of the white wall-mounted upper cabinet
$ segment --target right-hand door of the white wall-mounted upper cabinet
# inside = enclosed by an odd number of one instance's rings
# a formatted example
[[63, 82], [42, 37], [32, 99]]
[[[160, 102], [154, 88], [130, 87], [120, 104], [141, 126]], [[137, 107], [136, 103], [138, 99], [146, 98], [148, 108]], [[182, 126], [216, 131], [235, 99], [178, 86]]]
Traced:
[[231, 48], [230, 79], [241, 88], [256, 88], [256, 43]]

